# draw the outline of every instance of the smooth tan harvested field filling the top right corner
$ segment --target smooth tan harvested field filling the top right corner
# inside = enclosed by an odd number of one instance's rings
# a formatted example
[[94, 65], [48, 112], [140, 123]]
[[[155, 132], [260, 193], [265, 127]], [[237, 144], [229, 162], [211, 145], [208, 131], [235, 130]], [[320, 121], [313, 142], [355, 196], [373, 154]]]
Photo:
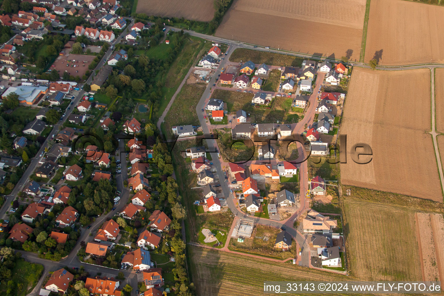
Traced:
[[414, 1], [372, 0], [365, 61], [383, 65], [444, 62], [444, 7]]

